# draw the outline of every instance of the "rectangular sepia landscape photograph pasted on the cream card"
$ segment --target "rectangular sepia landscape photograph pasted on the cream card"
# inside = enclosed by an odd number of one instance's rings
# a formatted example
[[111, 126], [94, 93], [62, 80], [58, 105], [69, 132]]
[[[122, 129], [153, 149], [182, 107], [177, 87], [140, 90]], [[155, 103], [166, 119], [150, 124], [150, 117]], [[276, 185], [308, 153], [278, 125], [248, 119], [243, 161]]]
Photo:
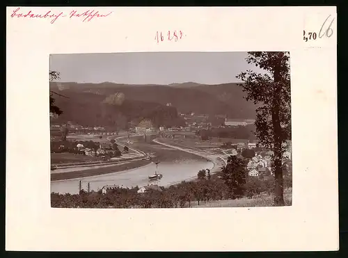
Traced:
[[289, 52], [52, 54], [48, 72], [51, 207], [292, 205]]

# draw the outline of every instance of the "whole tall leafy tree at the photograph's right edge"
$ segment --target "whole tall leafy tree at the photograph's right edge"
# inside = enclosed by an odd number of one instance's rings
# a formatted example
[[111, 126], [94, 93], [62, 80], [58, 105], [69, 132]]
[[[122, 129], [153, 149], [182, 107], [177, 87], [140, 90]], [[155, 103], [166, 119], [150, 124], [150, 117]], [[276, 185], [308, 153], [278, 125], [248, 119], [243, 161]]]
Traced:
[[251, 70], [242, 72], [237, 78], [247, 92], [246, 100], [259, 104], [256, 109], [255, 134], [259, 145], [273, 150], [274, 177], [276, 181], [274, 204], [284, 206], [283, 197], [283, 152], [286, 140], [291, 139], [290, 111], [290, 64], [288, 52], [248, 52], [246, 61], [262, 68], [265, 73]]

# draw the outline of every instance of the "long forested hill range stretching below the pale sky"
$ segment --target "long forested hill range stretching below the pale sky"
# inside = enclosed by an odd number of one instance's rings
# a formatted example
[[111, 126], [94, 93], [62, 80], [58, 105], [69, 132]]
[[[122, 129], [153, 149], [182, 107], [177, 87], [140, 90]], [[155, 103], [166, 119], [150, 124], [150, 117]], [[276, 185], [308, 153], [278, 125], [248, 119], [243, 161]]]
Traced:
[[[119, 124], [152, 118], [161, 124], [182, 124], [180, 113], [218, 115], [229, 118], [255, 118], [255, 105], [246, 102], [236, 83], [200, 85], [173, 83], [160, 85], [125, 85], [118, 83], [50, 83], [50, 89], [68, 96], [56, 96], [56, 105], [64, 112], [59, 122], [79, 124]], [[122, 93], [121, 105], [102, 102], [109, 95]], [[171, 103], [171, 106], [166, 104]], [[121, 122], [122, 121], [122, 122]]]

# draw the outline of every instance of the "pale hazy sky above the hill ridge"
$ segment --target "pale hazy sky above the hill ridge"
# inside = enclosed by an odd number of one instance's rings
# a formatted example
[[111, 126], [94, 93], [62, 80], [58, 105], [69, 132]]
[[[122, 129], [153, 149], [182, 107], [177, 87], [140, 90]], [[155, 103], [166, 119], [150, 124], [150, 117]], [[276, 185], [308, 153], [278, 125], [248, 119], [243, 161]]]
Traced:
[[77, 83], [171, 84], [239, 82], [246, 70], [262, 72], [246, 63], [246, 52], [137, 52], [116, 54], [54, 54], [49, 70], [60, 81]]

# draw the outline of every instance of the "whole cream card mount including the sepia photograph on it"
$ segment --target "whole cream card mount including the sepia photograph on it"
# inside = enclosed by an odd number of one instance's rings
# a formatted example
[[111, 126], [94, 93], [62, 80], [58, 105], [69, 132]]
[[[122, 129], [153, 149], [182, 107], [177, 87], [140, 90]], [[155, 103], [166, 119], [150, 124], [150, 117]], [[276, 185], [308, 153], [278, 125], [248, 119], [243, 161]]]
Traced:
[[6, 250], [338, 250], [335, 7], [6, 17]]

